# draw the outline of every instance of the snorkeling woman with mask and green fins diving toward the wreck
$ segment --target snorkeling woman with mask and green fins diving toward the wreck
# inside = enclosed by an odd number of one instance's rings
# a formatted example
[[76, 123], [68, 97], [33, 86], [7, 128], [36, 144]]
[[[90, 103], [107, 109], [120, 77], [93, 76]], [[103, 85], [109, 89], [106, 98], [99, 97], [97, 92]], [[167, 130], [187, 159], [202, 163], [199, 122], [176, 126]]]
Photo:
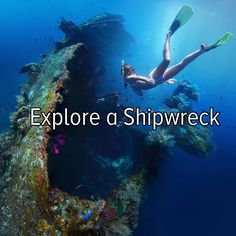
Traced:
[[209, 52], [212, 49], [224, 45], [233, 37], [232, 33], [225, 33], [225, 35], [215, 43], [209, 46], [202, 44], [199, 50], [186, 56], [180, 63], [172, 66], [171, 68], [168, 68], [171, 59], [170, 38], [177, 29], [183, 26], [191, 18], [192, 15], [193, 10], [188, 6], [184, 6], [179, 11], [166, 35], [166, 41], [163, 50], [163, 61], [149, 74], [148, 77], [137, 75], [131, 65], [124, 64], [124, 61], [122, 61], [121, 72], [124, 79], [125, 87], [130, 84], [135, 93], [137, 93], [138, 95], [142, 95], [142, 90], [151, 89], [163, 83], [174, 84], [176, 82], [174, 76], [182, 71], [188, 64], [190, 64], [203, 53]]

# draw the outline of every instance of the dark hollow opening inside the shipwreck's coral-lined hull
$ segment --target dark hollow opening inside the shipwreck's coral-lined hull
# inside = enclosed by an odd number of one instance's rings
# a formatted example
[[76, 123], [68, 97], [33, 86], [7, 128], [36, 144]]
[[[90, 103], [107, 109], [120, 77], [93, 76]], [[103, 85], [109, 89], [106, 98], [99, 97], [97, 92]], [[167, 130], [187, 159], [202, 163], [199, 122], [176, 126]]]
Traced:
[[64, 101], [57, 111], [98, 112], [98, 126], [59, 126], [50, 134], [48, 175], [50, 187], [80, 198], [108, 197], [112, 189], [133, 173], [132, 140], [124, 127], [106, 123], [109, 112], [123, 114], [118, 94], [97, 97], [95, 66], [90, 52], [81, 46], [68, 62], [70, 72], [63, 88]]

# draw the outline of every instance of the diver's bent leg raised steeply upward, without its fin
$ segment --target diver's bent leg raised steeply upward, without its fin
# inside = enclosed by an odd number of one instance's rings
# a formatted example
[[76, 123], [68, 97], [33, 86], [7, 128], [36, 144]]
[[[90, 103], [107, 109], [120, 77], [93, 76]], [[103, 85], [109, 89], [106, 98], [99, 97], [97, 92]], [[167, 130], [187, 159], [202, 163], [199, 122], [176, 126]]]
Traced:
[[165, 41], [165, 45], [164, 45], [164, 49], [163, 49], [163, 61], [161, 62], [161, 64], [156, 67], [148, 76], [149, 79], [158, 79], [160, 77], [162, 77], [162, 75], [164, 74], [164, 72], [166, 71], [167, 67], [170, 64], [170, 36], [171, 34], [168, 33], [166, 35], [166, 41]]

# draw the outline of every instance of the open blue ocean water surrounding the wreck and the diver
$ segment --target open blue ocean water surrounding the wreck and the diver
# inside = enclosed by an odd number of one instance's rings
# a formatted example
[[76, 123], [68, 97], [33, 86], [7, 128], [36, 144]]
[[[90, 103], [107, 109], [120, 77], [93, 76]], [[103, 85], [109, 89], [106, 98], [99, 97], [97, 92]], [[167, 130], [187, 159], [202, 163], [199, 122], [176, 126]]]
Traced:
[[[15, 95], [26, 79], [18, 73], [21, 66], [38, 61], [62, 37], [57, 28], [62, 17], [80, 23], [101, 12], [122, 14], [137, 47], [132, 56], [119, 55], [116, 60], [124, 58], [137, 72], [148, 74], [162, 59], [173, 17], [186, 4], [192, 6], [194, 16], [171, 40], [173, 64], [202, 42], [214, 42], [226, 31], [236, 32], [234, 0], [2, 0], [0, 130], [8, 129]], [[204, 160], [179, 150], [173, 153], [140, 209], [136, 235], [236, 235], [235, 50], [234, 39], [201, 56], [176, 77], [198, 85], [198, 110], [213, 106], [221, 112], [221, 126], [213, 129], [216, 151]], [[123, 92], [119, 66], [117, 81], [108, 87]], [[172, 90], [167, 85], [157, 87], [146, 91], [143, 100], [132, 94], [132, 105], [156, 106]]]

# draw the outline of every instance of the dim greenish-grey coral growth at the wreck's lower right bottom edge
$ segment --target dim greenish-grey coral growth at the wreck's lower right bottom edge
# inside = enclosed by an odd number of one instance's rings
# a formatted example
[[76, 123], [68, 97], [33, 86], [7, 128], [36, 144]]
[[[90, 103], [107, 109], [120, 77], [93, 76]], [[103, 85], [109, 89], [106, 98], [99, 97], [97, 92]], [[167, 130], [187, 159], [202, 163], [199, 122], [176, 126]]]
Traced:
[[113, 191], [99, 222], [101, 235], [132, 235], [132, 230], [137, 227], [139, 205], [144, 194], [144, 179], [145, 174], [140, 172], [124, 180]]

